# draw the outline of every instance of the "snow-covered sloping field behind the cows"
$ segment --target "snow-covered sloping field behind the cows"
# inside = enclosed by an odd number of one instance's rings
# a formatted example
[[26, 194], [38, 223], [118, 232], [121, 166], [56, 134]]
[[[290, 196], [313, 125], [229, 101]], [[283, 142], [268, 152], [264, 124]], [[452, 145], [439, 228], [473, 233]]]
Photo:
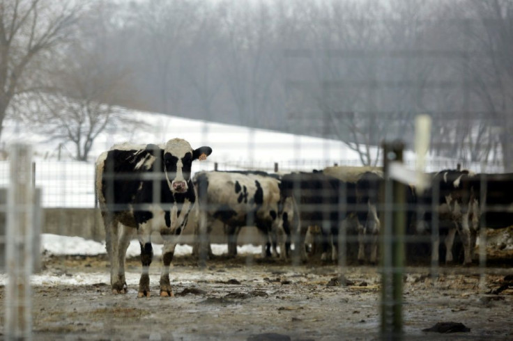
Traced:
[[[265, 170], [273, 172], [275, 163], [279, 171], [312, 171], [326, 166], [361, 166], [357, 152], [341, 141], [312, 136], [298, 136], [264, 129], [190, 120], [159, 113], [127, 111], [131, 118], [144, 122], [144, 127], [130, 134], [112, 128], [100, 134], [93, 144], [88, 162], [72, 161], [74, 146], [52, 141], [49, 136], [34, 132], [24, 122], [6, 120], [1, 145], [8, 149], [11, 143], [31, 143], [35, 153], [36, 186], [43, 189], [43, 207], [94, 207], [94, 160], [116, 143], [164, 143], [171, 138], [185, 138], [193, 148], [209, 145], [213, 153], [206, 161], [194, 162], [192, 173], [199, 170]], [[60, 150], [60, 151], [59, 151]], [[373, 155], [378, 148], [370, 147]], [[57, 158], [61, 157], [58, 161]], [[404, 153], [406, 164], [413, 168], [415, 154]], [[456, 168], [459, 160], [427, 156], [426, 171]], [[475, 172], [500, 171], [500, 167], [487, 164], [463, 164]], [[0, 161], [0, 186], [7, 186], [8, 161]]]

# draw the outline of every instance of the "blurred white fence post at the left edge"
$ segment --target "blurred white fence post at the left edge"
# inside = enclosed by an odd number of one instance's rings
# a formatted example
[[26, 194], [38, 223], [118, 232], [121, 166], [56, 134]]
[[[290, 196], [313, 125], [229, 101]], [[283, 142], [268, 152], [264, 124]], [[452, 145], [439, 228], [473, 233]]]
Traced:
[[30, 276], [33, 268], [34, 223], [31, 157], [29, 145], [14, 144], [11, 147], [6, 214], [6, 340], [31, 340]]

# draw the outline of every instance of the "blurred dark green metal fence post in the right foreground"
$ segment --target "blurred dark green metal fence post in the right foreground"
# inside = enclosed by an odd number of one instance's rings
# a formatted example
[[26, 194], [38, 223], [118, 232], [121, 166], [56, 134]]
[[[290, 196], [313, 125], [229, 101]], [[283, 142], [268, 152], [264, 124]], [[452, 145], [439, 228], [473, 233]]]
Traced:
[[406, 191], [404, 184], [392, 180], [391, 161], [403, 160], [404, 143], [383, 143], [385, 198], [381, 236], [381, 337], [402, 338], [402, 294], [404, 272], [404, 234], [406, 230]]

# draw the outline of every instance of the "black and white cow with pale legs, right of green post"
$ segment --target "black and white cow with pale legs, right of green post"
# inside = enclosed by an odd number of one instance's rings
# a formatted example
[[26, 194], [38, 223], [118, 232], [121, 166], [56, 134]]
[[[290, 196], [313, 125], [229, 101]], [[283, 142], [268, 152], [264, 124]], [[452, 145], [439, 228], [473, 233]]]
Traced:
[[[432, 262], [439, 261], [441, 234], [445, 235], [445, 263], [453, 262], [452, 248], [456, 233], [464, 248], [463, 263], [468, 265], [472, 262], [480, 223], [480, 184], [476, 180], [477, 177], [468, 170], [441, 170], [431, 174], [431, 187], [418, 193], [420, 214], [417, 218], [425, 224], [424, 228], [417, 228], [416, 232], [434, 237], [431, 246]], [[418, 223], [417, 226], [422, 225]]]

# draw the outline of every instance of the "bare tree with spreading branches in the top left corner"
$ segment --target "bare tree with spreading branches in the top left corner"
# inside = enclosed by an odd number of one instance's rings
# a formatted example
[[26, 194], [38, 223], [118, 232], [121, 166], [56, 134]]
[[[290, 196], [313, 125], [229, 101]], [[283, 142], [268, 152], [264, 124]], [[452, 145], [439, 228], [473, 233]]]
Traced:
[[29, 69], [68, 42], [83, 6], [74, 0], [0, 0], [0, 133], [13, 97], [31, 90]]

